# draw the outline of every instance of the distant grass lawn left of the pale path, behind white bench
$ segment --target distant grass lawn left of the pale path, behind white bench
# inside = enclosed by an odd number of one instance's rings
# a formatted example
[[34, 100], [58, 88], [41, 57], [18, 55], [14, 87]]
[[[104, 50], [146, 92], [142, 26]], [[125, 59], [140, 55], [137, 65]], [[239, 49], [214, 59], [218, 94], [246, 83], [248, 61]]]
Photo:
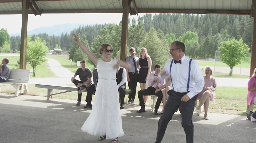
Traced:
[[[19, 68], [19, 67], [16, 67], [15, 65], [17, 64], [17, 61], [20, 59], [20, 57], [18, 57], [18, 56], [0, 56], [0, 59], [3, 59], [3, 58], [9, 59], [8, 65], [11, 69]], [[33, 69], [33, 68], [31, 67], [30, 64], [27, 64], [26, 69]], [[31, 73], [30, 77], [33, 78], [32, 73]], [[48, 67], [47, 61], [42, 63], [42, 65], [38, 65], [36, 67], [36, 77], [35, 78], [46, 78], [46, 77], [55, 77], [54, 73]]]

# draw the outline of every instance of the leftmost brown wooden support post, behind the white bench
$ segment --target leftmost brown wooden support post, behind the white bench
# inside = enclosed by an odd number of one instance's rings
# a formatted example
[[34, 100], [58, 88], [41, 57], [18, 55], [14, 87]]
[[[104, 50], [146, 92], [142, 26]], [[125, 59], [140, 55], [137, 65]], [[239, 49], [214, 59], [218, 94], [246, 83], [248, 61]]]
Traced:
[[27, 58], [27, 21], [29, 0], [22, 0], [22, 26], [21, 26], [21, 47], [20, 47], [20, 69], [26, 69]]

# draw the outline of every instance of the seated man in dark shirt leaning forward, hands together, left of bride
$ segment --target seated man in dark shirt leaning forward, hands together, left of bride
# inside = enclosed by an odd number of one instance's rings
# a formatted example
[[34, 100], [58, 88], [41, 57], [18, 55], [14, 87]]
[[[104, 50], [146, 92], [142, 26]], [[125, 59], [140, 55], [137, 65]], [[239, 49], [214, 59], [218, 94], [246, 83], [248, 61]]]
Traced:
[[[89, 68], [86, 68], [85, 60], [80, 62], [81, 68], [76, 70], [75, 75], [71, 78], [71, 81], [78, 87], [78, 103], [77, 106], [81, 105], [82, 92], [86, 91], [91, 86], [91, 77], [92, 71]], [[75, 77], [79, 75], [79, 80], [76, 80]]]

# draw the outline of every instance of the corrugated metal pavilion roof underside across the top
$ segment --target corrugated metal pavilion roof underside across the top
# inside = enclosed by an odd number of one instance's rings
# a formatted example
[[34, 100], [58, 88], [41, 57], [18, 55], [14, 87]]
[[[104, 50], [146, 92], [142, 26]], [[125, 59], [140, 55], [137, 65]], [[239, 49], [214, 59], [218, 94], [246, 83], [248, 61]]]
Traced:
[[[4, 12], [19, 12], [22, 10], [22, 0], [0, 0], [0, 14]], [[35, 0], [42, 13], [49, 10], [84, 10], [107, 9], [111, 12], [122, 12], [122, 0]], [[169, 10], [251, 10], [252, 0], [135, 0], [139, 12], [148, 9]], [[131, 2], [131, 8], [134, 8]], [[54, 11], [50, 11], [53, 12]], [[63, 12], [63, 11], [62, 11]], [[67, 12], [67, 11], [65, 11]], [[109, 12], [109, 11], [108, 11]], [[239, 12], [239, 11], [238, 11]], [[31, 12], [30, 12], [31, 13]], [[63, 12], [64, 13], [64, 12]], [[102, 12], [103, 13], [103, 12]], [[186, 12], [184, 12], [186, 13]]]

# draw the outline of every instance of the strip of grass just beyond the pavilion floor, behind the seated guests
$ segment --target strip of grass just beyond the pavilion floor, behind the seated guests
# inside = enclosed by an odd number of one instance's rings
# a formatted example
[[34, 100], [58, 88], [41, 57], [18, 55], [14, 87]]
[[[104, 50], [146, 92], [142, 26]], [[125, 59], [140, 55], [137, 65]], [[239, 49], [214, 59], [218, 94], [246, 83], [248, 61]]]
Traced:
[[[71, 85], [74, 86], [74, 85]], [[1, 92], [14, 94], [15, 89], [11, 85], [0, 85]], [[35, 85], [28, 85], [30, 95], [33, 96], [44, 96], [47, 100], [47, 89], [45, 88], [36, 88]], [[127, 88], [128, 89], [128, 86]], [[140, 90], [139, 85], [137, 86], [137, 92]], [[61, 90], [53, 90], [53, 93], [63, 92]], [[242, 114], [242, 111], [246, 110], [247, 107], [247, 87], [218, 87], [215, 91], [216, 99], [215, 102], [210, 102], [209, 112], [210, 113], [223, 113], [223, 114]], [[86, 104], [86, 92], [82, 93], [82, 104]], [[59, 95], [54, 95], [53, 98], [62, 98], [62, 99], [73, 99], [77, 100], [77, 92], [68, 92], [62, 93]], [[92, 96], [94, 100], [94, 96]], [[124, 102], [127, 104], [128, 95], [125, 96]], [[138, 95], [136, 95], [135, 103], [139, 104]], [[148, 107], [153, 103], [151, 97], [148, 98]], [[74, 101], [74, 105], [76, 101]], [[127, 105], [128, 106], [128, 105]], [[160, 105], [162, 108], [162, 103]], [[256, 107], [255, 109], [256, 110]]]

